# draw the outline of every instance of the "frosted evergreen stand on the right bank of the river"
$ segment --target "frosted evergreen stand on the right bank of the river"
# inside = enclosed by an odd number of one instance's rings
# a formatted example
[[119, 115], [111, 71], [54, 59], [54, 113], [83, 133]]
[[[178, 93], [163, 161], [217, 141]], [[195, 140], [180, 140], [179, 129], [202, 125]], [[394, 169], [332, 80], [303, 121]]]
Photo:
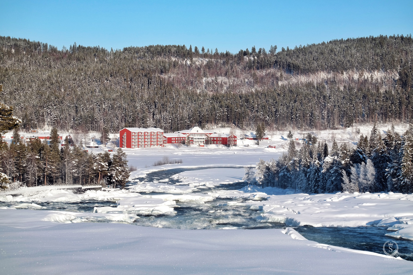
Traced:
[[256, 180], [262, 187], [311, 193], [413, 192], [413, 124], [403, 135], [394, 127], [381, 137], [373, 126], [370, 137], [360, 136], [356, 148], [333, 140], [317, 142], [308, 133], [296, 149], [292, 134], [287, 153], [278, 160], [260, 160]]

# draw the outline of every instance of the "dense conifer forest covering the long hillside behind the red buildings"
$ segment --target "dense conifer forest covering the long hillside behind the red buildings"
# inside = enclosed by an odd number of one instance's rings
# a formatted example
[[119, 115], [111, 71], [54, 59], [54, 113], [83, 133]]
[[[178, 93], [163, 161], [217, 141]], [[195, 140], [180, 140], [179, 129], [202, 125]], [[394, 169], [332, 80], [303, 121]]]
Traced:
[[21, 130], [234, 125], [335, 129], [413, 115], [411, 35], [219, 52], [192, 45], [107, 50], [0, 36], [0, 102]]

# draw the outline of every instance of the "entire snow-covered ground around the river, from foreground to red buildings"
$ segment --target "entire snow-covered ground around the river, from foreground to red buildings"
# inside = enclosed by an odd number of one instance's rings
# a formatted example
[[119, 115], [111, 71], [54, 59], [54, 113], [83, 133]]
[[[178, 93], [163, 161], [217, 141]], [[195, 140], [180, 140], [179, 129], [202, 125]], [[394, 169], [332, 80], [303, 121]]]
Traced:
[[[396, 130], [402, 133], [404, 126]], [[370, 129], [371, 126], [360, 127], [360, 133], [368, 134]], [[301, 138], [304, 133], [294, 133], [294, 137]], [[341, 143], [358, 140], [359, 136], [356, 128], [316, 134], [319, 140], [328, 143], [333, 138]], [[214, 186], [242, 180], [244, 169], [234, 167], [255, 165], [259, 159], [268, 161], [280, 156], [287, 147], [287, 132], [268, 135], [272, 140], [259, 146], [254, 141], [240, 140], [233, 149], [172, 145], [125, 149], [129, 165], [137, 168], [131, 174], [133, 185], [126, 190], [88, 190], [84, 194], [49, 190], [14, 197], [0, 194], [0, 201], [9, 205], [0, 207], [0, 270], [4, 274], [413, 273], [411, 261], [319, 244], [306, 240], [292, 228], [178, 230], [129, 224], [142, 215], [154, 219], [158, 215], [173, 217], [177, 202], [203, 204], [216, 198], [244, 198], [228, 204], [257, 211], [256, 223], [386, 226], [389, 237], [413, 240], [412, 194], [311, 195], [269, 187], [214, 190]], [[270, 144], [277, 148], [266, 148]], [[164, 156], [182, 159], [182, 164], [152, 166]], [[210, 168], [179, 172], [174, 178], [183, 182], [176, 185], [168, 184], [166, 178], [144, 180], [152, 171], [186, 167]], [[208, 191], [201, 193], [202, 190]], [[118, 203], [95, 207], [90, 213], [47, 210], [39, 205], [91, 199]]]

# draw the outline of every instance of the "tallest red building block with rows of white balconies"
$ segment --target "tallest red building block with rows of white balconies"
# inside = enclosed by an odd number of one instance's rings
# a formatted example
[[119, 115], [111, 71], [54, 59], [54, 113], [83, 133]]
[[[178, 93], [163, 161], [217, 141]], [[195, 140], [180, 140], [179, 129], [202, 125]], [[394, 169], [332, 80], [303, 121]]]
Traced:
[[164, 130], [159, 128], [123, 128], [119, 131], [119, 147], [163, 147]]

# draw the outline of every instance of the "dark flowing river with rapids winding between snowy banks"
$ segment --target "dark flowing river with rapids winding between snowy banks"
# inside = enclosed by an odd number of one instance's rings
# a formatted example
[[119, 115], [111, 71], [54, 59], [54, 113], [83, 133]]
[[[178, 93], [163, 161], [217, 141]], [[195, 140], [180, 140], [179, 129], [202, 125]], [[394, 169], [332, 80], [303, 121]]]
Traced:
[[[174, 175], [191, 170], [202, 170], [210, 168], [228, 167], [202, 167], [202, 168], [175, 168], [163, 171], [148, 173], [140, 178], [142, 181], [154, 182], [163, 179], [168, 184], [180, 183], [179, 178]], [[234, 167], [234, 169], [243, 169]], [[133, 183], [129, 183], [133, 185]], [[211, 190], [238, 190], [247, 185], [245, 182], [230, 183], [216, 187], [199, 189], [197, 193], [208, 193]], [[162, 194], [159, 192], [141, 194]], [[210, 202], [176, 202], [174, 210], [175, 216], [140, 216], [134, 224], [178, 229], [263, 229], [263, 228], [285, 228], [283, 223], [262, 223], [255, 218], [259, 212], [250, 209], [250, 206], [234, 206], [231, 202], [245, 202], [242, 198], [216, 198]], [[251, 200], [251, 198], [248, 198]], [[82, 202], [36, 202], [44, 206], [45, 210], [63, 210], [75, 212], [93, 212], [94, 207], [116, 206], [116, 202], [88, 200]], [[0, 206], [11, 206], [10, 203], [1, 202]], [[306, 239], [313, 240], [322, 244], [330, 244], [339, 247], [372, 251], [383, 254], [382, 246], [385, 242], [392, 240], [385, 236], [386, 227], [312, 227], [299, 226], [293, 227]], [[394, 240], [393, 240], [394, 241]], [[413, 261], [413, 241], [397, 239], [399, 245], [399, 256], [409, 261]]]

